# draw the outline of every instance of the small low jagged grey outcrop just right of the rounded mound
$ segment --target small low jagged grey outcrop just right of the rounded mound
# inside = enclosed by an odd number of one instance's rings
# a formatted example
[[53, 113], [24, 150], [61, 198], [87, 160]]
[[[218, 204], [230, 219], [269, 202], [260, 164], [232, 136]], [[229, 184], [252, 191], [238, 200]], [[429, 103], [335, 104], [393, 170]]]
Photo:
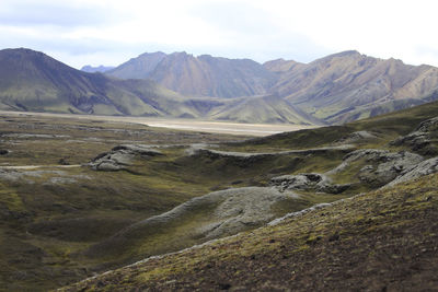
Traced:
[[285, 190], [311, 190], [327, 194], [341, 194], [349, 188], [349, 184], [338, 185], [323, 174], [303, 173], [298, 175], [281, 175], [273, 177], [269, 182], [272, 186], [280, 191]]

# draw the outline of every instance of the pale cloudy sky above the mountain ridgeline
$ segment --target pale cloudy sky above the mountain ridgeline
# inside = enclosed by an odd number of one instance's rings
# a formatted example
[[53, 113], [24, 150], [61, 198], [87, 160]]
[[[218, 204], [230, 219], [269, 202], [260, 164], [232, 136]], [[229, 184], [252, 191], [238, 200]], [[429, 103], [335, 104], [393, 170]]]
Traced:
[[438, 67], [436, 0], [0, 0], [0, 49], [74, 68], [187, 51], [300, 62], [356, 49]]

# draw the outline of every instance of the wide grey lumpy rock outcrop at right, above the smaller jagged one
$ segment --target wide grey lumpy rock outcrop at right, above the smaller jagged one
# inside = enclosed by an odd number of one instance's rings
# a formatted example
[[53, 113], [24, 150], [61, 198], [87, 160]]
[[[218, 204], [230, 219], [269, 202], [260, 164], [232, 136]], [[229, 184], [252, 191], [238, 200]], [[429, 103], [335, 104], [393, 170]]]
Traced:
[[408, 173], [424, 159], [407, 151], [390, 152], [387, 150], [361, 149], [345, 155], [343, 163], [326, 174], [342, 172], [359, 160], [365, 160], [366, 163], [366, 166], [360, 168], [358, 173], [359, 179], [371, 187], [381, 187]]

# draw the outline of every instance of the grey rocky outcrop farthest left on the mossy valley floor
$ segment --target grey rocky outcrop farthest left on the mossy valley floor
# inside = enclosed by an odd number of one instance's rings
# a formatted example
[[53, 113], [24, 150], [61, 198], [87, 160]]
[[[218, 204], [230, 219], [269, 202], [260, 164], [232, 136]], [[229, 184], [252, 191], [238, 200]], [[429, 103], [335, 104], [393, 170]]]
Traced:
[[89, 165], [95, 171], [116, 172], [131, 165], [136, 156], [151, 157], [157, 155], [162, 155], [162, 153], [145, 145], [122, 144], [113, 148], [110, 152], [97, 155]]

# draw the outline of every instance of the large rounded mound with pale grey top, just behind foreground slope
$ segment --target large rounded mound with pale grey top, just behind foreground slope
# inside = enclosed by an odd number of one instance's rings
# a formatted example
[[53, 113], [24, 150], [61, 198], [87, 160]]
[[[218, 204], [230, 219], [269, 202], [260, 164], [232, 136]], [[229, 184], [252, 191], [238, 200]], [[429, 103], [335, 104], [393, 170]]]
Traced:
[[[275, 187], [243, 187], [214, 191], [193, 198], [174, 209], [132, 224], [107, 241], [92, 246], [90, 256], [107, 256], [110, 250], [120, 250], [148, 245], [160, 238], [157, 250], [178, 250], [209, 240], [237, 234], [274, 220], [275, 203], [298, 198], [291, 191], [280, 192]], [[281, 214], [280, 214], [281, 215]], [[188, 226], [188, 230], [187, 230]]]

